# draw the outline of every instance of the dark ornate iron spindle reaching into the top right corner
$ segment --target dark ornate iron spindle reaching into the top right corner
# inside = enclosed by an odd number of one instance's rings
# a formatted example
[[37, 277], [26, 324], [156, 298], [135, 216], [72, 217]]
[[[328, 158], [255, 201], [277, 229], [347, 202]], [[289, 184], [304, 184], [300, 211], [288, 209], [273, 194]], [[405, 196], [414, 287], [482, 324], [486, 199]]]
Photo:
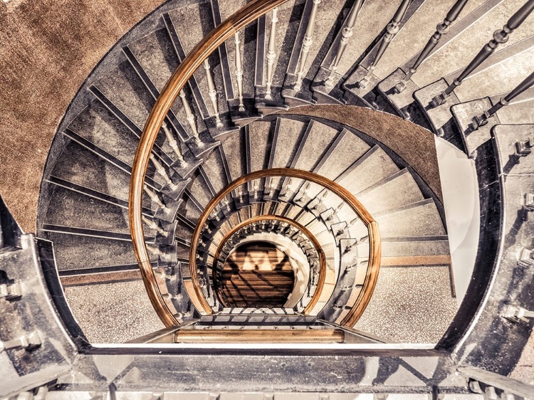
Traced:
[[478, 52], [475, 58], [471, 60], [471, 63], [467, 65], [466, 69], [462, 71], [460, 76], [456, 78], [454, 82], [451, 83], [448, 88], [446, 88], [446, 90], [439, 93], [439, 95], [432, 99], [431, 106], [438, 107], [439, 105], [444, 104], [444, 102], [446, 102], [446, 98], [449, 97], [453, 90], [461, 85], [464, 79], [467, 78], [473, 72], [473, 70], [478, 67], [478, 65], [481, 65], [486, 58], [491, 56], [499, 44], [506, 43], [506, 41], [508, 41], [510, 33], [512, 33], [521, 25], [521, 23], [523, 23], [523, 21], [525, 21], [533, 9], [534, 0], [528, 0], [523, 7], [513, 14], [513, 16], [511, 16], [511, 19], [508, 19], [508, 23], [506, 23], [501, 30], [497, 30], [493, 33], [493, 39], [491, 39], [491, 41], [489, 41], [488, 44], [486, 44], [486, 46], [484, 46], [481, 51]]

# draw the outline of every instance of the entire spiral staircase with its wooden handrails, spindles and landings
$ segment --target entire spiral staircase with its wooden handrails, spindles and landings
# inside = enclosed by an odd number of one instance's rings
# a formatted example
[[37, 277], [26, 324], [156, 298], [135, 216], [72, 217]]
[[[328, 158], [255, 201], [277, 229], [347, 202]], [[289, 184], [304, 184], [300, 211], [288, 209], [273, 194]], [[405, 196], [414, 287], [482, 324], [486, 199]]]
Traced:
[[[533, 9], [164, 3], [70, 104], [39, 239], [1, 204], [0, 397], [528, 399]], [[478, 179], [460, 299], [434, 140]]]

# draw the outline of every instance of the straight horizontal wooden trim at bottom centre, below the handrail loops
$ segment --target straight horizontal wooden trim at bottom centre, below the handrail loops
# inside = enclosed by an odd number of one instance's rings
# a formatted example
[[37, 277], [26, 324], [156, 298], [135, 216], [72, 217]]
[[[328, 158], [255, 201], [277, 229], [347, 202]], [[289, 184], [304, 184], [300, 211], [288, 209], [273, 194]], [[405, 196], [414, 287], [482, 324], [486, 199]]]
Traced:
[[339, 329], [307, 330], [177, 330], [174, 343], [342, 343]]

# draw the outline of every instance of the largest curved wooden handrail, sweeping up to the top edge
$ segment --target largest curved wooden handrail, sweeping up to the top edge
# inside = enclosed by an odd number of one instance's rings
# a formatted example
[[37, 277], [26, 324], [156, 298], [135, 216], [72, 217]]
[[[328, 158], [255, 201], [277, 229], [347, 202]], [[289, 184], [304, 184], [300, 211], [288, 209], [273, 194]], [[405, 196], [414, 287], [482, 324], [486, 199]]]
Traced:
[[[162, 127], [164, 118], [169, 112], [174, 100], [184, 88], [187, 80], [192, 77], [193, 73], [204, 63], [211, 53], [221, 46], [226, 39], [230, 38], [239, 29], [244, 28], [248, 23], [258, 19], [268, 11], [280, 6], [288, 0], [253, 0], [242, 9], [232, 14], [219, 26], [214, 28], [211, 33], [207, 34], [195, 48], [184, 58], [178, 65], [171, 78], [159, 94], [154, 107], [150, 111], [147, 123], [140, 137], [135, 158], [132, 165], [132, 177], [130, 179], [130, 194], [128, 196], [128, 217], [130, 221], [130, 233], [132, 234], [132, 244], [135, 257], [139, 263], [143, 283], [150, 298], [150, 302], [160, 320], [166, 327], [179, 325], [176, 317], [165, 303], [161, 292], [157, 286], [154, 271], [150, 264], [150, 258], [145, 245], [145, 232], [142, 226], [141, 210], [143, 186], [145, 184], [145, 174], [152, 147], [156, 141], [159, 129]], [[195, 270], [196, 275], [196, 270]]]

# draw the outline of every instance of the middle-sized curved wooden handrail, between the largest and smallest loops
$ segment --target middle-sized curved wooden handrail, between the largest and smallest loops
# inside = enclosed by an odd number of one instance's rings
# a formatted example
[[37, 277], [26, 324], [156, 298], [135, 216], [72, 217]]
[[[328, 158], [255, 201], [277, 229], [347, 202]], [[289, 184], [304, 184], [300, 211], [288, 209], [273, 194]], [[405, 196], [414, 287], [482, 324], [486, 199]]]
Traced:
[[[331, 181], [328, 178], [322, 177], [318, 174], [313, 174], [313, 172], [303, 171], [302, 169], [292, 169], [292, 168], [272, 168], [272, 169], [262, 169], [260, 171], [251, 172], [250, 174], [243, 175], [242, 177], [232, 181], [224, 189], [219, 191], [216, 196], [214, 196], [209, 204], [206, 206], [202, 212], [199, 220], [197, 221], [197, 227], [193, 232], [191, 238], [191, 246], [189, 247], [189, 273], [191, 273], [192, 281], [186, 285], [186, 290], [189, 294], [189, 298], [197, 307], [197, 310], [203, 310], [207, 314], [213, 312], [206, 298], [202, 294], [202, 290], [199, 285], [198, 275], [197, 275], [197, 245], [199, 243], [199, 238], [204, 227], [204, 224], [209, 219], [211, 211], [214, 210], [215, 206], [231, 194], [234, 189], [245, 184], [247, 181], [253, 181], [254, 179], [262, 179], [266, 177], [288, 177], [295, 179], [304, 179], [305, 181], [310, 181], [314, 184], [323, 186], [325, 189], [332, 191], [333, 194], [340, 197], [342, 201], [347, 203], [352, 211], [354, 211], [358, 218], [367, 226], [367, 231], [369, 234], [369, 243], [370, 243], [370, 254], [369, 254], [369, 263], [367, 265], [367, 274], [363, 283], [362, 290], [357, 297], [354, 305], [351, 307], [350, 311], [347, 313], [345, 318], [342, 320], [341, 325], [345, 326], [354, 326], [356, 321], [360, 319], [367, 304], [369, 304], [372, 296], [373, 290], [375, 290], [375, 285], [378, 279], [378, 272], [380, 268], [380, 254], [381, 254], [381, 239], [380, 232], [378, 229], [378, 223], [372, 219], [371, 214], [365, 209], [365, 207], [356, 199], [350, 191], [344, 187], [337, 184], [335, 181]], [[189, 290], [190, 285], [192, 285], [192, 291]], [[352, 324], [352, 325], [351, 325]]]

